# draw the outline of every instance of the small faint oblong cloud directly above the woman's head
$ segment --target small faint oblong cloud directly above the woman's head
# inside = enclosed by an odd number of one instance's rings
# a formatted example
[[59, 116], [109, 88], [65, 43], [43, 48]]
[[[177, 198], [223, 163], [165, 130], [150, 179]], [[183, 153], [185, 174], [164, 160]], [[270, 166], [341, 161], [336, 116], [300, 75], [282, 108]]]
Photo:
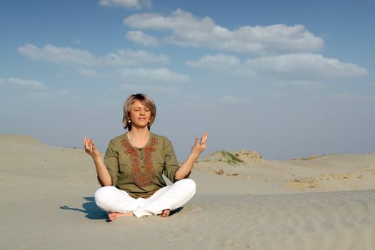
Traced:
[[166, 68], [158, 69], [120, 69], [120, 75], [129, 84], [181, 84], [189, 81], [189, 76], [169, 71]]

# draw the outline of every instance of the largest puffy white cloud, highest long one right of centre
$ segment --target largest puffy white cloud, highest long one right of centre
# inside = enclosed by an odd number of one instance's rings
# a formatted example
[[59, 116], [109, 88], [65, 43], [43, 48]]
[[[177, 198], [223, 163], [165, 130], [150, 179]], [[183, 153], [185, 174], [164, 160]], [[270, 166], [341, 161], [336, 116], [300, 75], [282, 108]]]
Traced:
[[252, 54], [311, 52], [323, 47], [323, 39], [314, 36], [302, 25], [241, 26], [230, 30], [209, 18], [196, 18], [177, 9], [169, 16], [134, 14], [124, 24], [136, 29], [171, 31], [165, 39], [181, 46], [209, 46], [226, 51]]

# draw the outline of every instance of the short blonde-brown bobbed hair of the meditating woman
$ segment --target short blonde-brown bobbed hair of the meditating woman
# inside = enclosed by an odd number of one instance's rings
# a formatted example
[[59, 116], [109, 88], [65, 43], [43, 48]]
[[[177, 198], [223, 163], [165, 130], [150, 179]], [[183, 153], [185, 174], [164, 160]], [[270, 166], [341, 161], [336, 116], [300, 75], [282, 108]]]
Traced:
[[155, 106], [154, 101], [151, 99], [151, 97], [146, 94], [132, 94], [124, 102], [124, 116], [122, 117], [122, 123], [124, 124], [124, 129], [127, 128], [129, 131], [131, 131], [131, 122], [129, 122], [130, 120], [129, 113], [130, 113], [131, 105], [134, 104], [134, 101], [136, 100], [141, 101], [141, 103], [144, 104], [144, 106], [150, 109], [151, 117], [150, 117], [150, 122], [147, 125], [147, 127], [150, 130], [151, 125], [155, 121], [156, 106]]

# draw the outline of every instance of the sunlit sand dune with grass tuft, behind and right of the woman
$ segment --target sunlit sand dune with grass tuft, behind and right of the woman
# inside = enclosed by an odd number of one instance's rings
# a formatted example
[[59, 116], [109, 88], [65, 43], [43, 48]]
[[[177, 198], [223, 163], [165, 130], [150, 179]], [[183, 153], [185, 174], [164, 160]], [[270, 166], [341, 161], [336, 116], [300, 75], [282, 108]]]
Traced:
[[[267, 161], [254, 151], [218, 151], [199, 159], [195, 169], [221, 176], [268, 183], [252, 194], [297, 191], [375, 189], [375, 154], [309, 156], [306, 159]], [[274, 189], [271, 186], [279, 186]], [[287, 189], [284, 189], [286, 187]]]

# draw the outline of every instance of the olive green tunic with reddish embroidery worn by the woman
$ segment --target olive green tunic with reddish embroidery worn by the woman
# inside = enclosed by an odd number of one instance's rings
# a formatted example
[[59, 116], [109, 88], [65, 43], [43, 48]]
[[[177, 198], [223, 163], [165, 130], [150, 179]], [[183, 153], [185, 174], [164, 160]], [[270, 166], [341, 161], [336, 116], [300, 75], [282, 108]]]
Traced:
[[175, 182], [179, 163], [171, 141], [151, 133], [149, 142], [139, 149], [131, 146], [127, 133], [111, 139], [104, 156], [112, 185], [134, 198], [146, 198], [166, 186], [163, 174]]

